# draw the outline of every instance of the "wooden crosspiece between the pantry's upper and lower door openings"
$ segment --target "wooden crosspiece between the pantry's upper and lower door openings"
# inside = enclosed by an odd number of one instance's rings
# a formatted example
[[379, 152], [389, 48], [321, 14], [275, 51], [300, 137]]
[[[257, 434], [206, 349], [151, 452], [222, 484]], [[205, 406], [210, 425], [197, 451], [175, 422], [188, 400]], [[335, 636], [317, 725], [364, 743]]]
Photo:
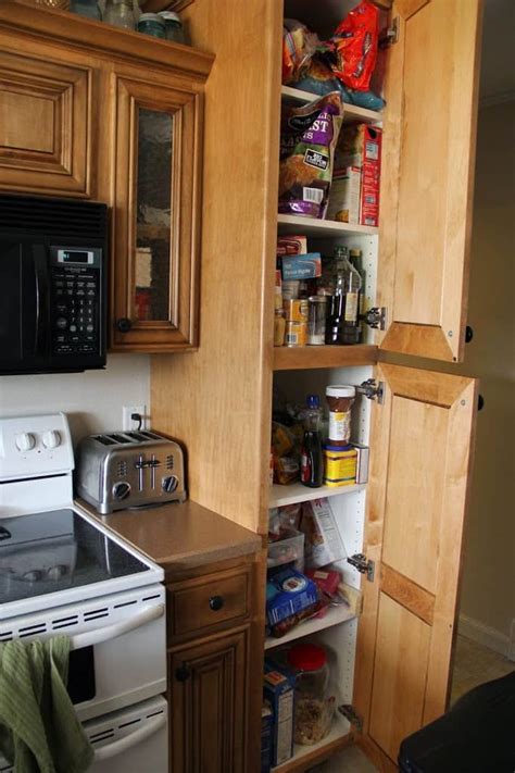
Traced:
[[374, 365], [378, 358], [377, 346], [276, 346], [274, 371], [307, 371], [321, 367]]

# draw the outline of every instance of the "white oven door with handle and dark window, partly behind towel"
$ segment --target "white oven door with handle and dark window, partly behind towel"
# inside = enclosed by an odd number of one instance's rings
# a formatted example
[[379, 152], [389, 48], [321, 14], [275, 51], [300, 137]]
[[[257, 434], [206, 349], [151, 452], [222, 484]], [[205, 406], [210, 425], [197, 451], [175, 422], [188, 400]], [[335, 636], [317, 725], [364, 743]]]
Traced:
[[166, 690], [164, 587], [100, 596], [0, 621], [0, 641], [71, 638], [68, 693], [81, 722]]

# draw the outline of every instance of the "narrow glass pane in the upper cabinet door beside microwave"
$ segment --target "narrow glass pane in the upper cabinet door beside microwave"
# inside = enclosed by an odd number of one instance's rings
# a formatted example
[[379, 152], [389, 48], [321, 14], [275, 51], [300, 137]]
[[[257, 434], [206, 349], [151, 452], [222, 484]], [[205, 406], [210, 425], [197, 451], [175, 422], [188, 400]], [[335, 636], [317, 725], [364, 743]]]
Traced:
[[169, 316], [174, 117], [138, 109], [135, 311], [139, 322]]

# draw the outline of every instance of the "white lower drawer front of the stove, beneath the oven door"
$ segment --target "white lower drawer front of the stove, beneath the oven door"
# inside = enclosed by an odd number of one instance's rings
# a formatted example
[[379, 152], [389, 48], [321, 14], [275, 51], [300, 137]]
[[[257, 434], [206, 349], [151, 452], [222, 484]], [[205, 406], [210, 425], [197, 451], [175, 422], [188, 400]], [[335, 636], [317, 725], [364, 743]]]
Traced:
[[[158, 696], [84, 723], [95, 749], [89, 773], [167, 773], [167, 703]], [[0, 756], [0, 773], [14, 773]]]

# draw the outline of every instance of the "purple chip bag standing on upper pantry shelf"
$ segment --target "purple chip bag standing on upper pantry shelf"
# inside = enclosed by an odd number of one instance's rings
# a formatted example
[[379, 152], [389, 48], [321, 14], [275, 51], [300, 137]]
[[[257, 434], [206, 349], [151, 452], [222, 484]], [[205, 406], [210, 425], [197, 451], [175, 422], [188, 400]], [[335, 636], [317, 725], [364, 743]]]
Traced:
[[343, 103], [331, 91], [301, 108], [285, 105], [280, 129], [279, 212], [323, 219]]

